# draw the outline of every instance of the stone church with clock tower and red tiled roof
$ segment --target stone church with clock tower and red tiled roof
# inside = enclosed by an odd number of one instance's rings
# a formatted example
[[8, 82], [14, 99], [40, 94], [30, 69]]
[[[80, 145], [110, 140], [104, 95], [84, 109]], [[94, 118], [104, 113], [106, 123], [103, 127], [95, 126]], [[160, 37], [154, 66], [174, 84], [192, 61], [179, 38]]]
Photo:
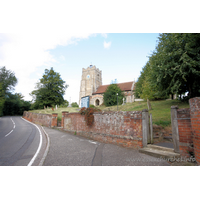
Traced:
[[[117, 83], [124, 91], [126, 102], [134, 102], [135, 81]], [[103, 93], [109, 85], [102, 85], [102, 71], [95, 65], [90, 65], [87, 69], [82, 69], [81, 86], [79, 93], [79, 105], [89, 107], [89, 105], [100, 106], [103, 104]]]

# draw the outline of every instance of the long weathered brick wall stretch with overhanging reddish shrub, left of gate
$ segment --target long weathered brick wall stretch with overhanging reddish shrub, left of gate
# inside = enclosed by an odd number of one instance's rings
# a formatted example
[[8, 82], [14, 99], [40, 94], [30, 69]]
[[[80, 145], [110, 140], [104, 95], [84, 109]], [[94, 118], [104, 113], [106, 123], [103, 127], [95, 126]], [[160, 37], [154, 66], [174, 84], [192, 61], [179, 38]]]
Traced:
[[142, 147], [142, 112], [101, 112], [94, 114], [94, 123], [86, 125], [84, 115], [68, 113], [63, 119], [64, 130], [101, 142], [124, 147]]

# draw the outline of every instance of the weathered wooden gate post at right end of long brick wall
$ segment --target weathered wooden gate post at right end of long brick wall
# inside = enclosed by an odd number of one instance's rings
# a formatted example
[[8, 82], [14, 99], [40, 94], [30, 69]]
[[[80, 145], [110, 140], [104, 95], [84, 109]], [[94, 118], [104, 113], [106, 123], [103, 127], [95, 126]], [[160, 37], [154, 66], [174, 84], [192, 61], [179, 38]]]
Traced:
[[149, 135], [149, 112], [147, 109], [142, 110], [142, 144], [143, 147], [147, 146], [147, 143], [150, 140]]

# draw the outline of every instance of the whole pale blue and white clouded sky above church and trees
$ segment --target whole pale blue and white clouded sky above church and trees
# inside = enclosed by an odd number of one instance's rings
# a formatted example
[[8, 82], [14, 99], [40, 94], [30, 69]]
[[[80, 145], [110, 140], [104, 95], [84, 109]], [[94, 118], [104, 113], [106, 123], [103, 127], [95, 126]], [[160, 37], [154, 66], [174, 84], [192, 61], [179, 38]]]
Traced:
[[0, 66], [15, 72], [15, 92], [29, 93], [45, 69], [61, 74], [69, 88], [64, 98], [78, 102], [82, 68], [102, 70], [103, 84], [137, 80], [148, 56], [155, 50], [158, 33], [102, 34], [0, 34]]

